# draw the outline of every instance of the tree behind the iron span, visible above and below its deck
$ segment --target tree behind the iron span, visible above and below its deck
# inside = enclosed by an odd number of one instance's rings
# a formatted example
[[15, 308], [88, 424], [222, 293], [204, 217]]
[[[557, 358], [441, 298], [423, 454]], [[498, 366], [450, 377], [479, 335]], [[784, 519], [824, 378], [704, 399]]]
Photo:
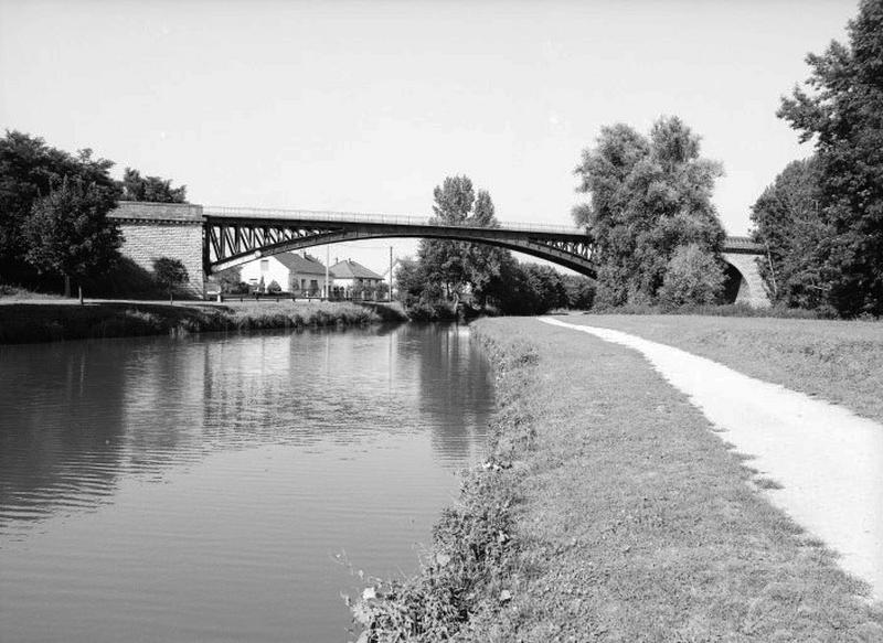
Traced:
[[[476, 196], [468, 176], [448, 176], [433, 192], [433, 213], [446, 225], [497, 227], [493, 202], [487, 191]], [[424, 239], [417, 257], [429, 298], [444, 296], [458, 301], [468, 286], [475, 297], [482, 297], [509, 253], [469, 242]], [[434, 291], [435, 290], [435, 291]]]

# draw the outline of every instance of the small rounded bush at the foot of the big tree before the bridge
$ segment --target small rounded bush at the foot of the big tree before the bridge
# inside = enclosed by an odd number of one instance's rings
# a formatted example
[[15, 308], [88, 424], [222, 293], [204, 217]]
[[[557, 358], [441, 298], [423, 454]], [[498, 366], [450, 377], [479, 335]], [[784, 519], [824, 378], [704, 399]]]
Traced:
[[724, 285], [724, 275], [712, 255], [698, 244], [680, 246], [669, 260], [659, 303], [664, 308], [714, 303]]

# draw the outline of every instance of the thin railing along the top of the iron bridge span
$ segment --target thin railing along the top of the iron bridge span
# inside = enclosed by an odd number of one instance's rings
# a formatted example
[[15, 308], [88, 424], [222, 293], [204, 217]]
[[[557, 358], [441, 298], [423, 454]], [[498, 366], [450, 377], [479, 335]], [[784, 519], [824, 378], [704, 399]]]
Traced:
[[[203, 214], [217, 218], [255, 218], [279, 221], [310, 221], [317, 223], [374, 223], [389, 225], [448, 227], [448, 224], [430, 216], [406, 216], [396, 214], [368, 214], [358, 212], [329, 212], [321, 210], [285, 210], [272, 207], [204, 206]], [[558, 233], [584, 235], [585, 231], [564, 225], [499, 222], [499, 229], [513, 232]]]

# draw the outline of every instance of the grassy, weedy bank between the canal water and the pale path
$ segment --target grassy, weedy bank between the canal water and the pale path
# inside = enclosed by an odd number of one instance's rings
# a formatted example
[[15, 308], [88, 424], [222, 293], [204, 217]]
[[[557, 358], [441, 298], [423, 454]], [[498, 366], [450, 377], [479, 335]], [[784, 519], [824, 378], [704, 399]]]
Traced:
[[637, 353], [531, 319], [477, 332], [498, 372], [491, 456], [423, 572], [366, 590], [364, 640], [883, 640], [866, 588]]

